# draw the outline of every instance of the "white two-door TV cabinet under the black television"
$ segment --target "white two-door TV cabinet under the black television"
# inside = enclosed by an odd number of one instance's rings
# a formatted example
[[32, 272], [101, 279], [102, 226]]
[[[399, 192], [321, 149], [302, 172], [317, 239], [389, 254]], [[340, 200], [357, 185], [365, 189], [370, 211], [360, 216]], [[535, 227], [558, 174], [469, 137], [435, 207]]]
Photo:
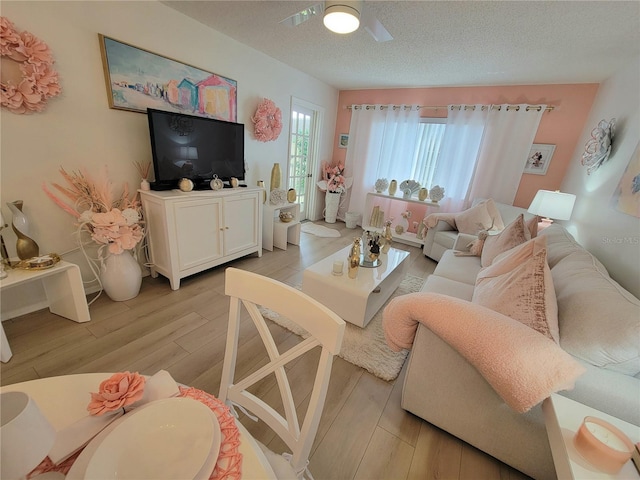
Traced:
[[139, 190], [151, 276], [180, 279], [236, 258], [262, 256], [262, 188]]

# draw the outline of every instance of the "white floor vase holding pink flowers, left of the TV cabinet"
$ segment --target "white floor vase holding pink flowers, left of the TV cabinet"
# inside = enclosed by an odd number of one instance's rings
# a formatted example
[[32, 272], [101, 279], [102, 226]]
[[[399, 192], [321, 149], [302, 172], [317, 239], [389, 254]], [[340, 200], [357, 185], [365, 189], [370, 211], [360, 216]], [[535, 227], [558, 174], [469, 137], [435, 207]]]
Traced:
[[111, 300], [123, 302], [138, 295], [142, 270], [129, 250], [110, 254], [100, 267], [100, 281]]

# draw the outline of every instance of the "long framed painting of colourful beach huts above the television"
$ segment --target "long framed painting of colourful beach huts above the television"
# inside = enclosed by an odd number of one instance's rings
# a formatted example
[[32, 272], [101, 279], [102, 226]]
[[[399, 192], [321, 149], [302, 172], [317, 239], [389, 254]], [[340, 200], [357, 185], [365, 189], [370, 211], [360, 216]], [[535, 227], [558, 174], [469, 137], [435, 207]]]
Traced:
[[237, 121], [238, 82], [98, 35], [109, 107]]

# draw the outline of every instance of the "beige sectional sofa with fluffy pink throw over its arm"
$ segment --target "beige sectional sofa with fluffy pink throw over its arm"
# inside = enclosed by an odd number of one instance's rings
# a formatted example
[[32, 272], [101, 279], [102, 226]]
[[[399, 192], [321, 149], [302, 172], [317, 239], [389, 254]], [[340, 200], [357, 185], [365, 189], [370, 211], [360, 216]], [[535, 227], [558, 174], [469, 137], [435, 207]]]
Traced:
[[[516, 213], [514, 208], [501, 211]], [[505, 223], [510, 218], [507, 213]], [[560, 346], [586, 368], [575, 388], [560, 394], [640, 425], [640, 301], [562, 226], [553, 224], [540, 235], [546, 236]], [[462, 249], [468, 242], [458, 244]], [[423, 291], [471, 301], [480, 257], [452, 250], [434, 256], [440, 262]], [[524, 414], [511, 410], [473, 366], [423, 324], [408, 360], [402, 407], [533, 478], [556, 476], [541, 406]]]

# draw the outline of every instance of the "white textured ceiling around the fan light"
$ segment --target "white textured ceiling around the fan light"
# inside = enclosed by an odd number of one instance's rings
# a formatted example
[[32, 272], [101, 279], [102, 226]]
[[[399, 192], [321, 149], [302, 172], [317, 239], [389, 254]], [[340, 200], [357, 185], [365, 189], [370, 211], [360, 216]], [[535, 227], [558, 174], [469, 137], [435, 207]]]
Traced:
[[311, 1], [164, 1], [339, 89], [599, 83], [640, 54], [640, 1], [365, 1], [391, 33], [280, 20]]

